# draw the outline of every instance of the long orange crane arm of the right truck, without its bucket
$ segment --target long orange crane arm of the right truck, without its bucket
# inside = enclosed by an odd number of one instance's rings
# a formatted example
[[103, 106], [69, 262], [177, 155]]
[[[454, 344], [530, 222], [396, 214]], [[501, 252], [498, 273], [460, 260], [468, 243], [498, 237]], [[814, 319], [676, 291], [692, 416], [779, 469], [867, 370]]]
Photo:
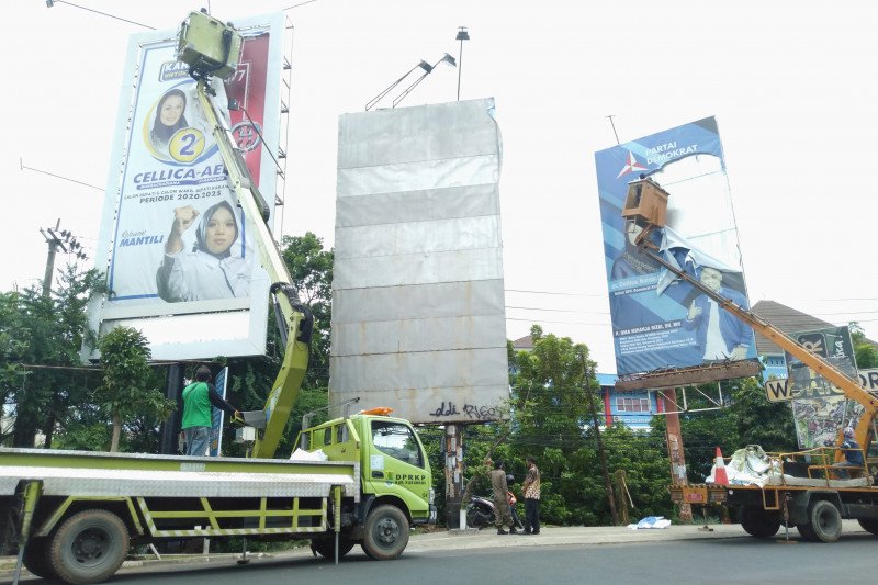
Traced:
[[693, 278], [689, 273], [680, 270], [679, 268], [675, 267], [674, 265], [669, 263], [667, 260], [662, 258], [660, 255], [655, 254], [653, 250], [655, 249], [655, 245], [650, 241], [649, 233], [654, 228], [654, 225], [649, 225], [646, 229], [644, 229], [639, 236], [639, 248], [640, 251], [662, 265], [664, 268], [676, 274], [680, 280], [684, 280], [708, 295], [710, 299], [717, 302], [717, 304], [741, 319], [742, 322], [750, 325], [753, 330], [777, 344], [781, 349], [788, 351], [792, 356], [796, 356], [798, 359], [802, 361], [806, 365], [811, 368], [814, 372], [819, 373], [830, 382], [832, 382], [835, 387], [841, 390], [844, 395], [852, 400], [856, 401], [860, 406], [864, 408], [864, 414], [857, 424], [855, 429], [855, 435], [859, 445], [867, 446], [869, 439], [869, 430], [871, 428], [871, 421], [875, 418], [876, 413], [878, 412], [878, 401], [869, 394], [865, 389], [860, 387], [859, 383], [855, 380], [852, 380], [847, 376], [844, 372], [832, 365], [831, 363], [824, 361], [812, 353], [811, 351], [807, 350], [804, 347], [800, 346], [796, 340], [791, 337], [786, 335], [784, 331], [778, 329], [777, 327], [770, 325], [762, 317], [746, 311], [733, 302], [729, 301], [717, 291], [706, 286], [699, 280]]

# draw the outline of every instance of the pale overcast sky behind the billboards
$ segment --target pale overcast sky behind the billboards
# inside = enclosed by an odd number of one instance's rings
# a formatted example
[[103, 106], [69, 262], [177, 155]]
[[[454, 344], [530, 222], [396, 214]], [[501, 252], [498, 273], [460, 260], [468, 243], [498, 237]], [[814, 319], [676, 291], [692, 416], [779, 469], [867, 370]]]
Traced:
[[[302, 1], [75, 3], [176, 29], [207, 4], [234, 22]], [[2, 13], [7, 291], [42, 281], [40, 228], [59, 218], [93, 256], [128, 35], [147, 29], [44, 0], [5, 2]], [[316, 0], [286, 14], [282, 234], [314, 232], [331, 247], [339, 114], [362, 111], [420, 59], [459, 58], [464, 25], [461, 99], [494, 97], [503, 133], [507, 337], [542, 323], [615, 372], [594, 170], [594, 153], [616, 144], [607, 116], [627, 142], [714, 115], [751, 302], [857, 320], [878, 339], [878, 5]], [[453, 101], [457, 90], [458, 71], [437, 68], [403, 105]]]

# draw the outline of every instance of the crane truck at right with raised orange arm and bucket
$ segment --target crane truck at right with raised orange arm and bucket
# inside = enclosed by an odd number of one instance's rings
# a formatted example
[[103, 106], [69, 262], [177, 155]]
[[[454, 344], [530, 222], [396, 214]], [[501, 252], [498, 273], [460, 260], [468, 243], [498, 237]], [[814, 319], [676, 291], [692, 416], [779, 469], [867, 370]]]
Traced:
[[833, 542], [842, 533], [843, 518], [856, 519], [864, 529], [878, 536], [878, 398], [777, 327], [666, 260], [658, 249], [658, 235], [665, 225], [668, 196], [669, 193], [649, 177], [629, 183], [622, 216], [642, 228], [637, 239], [639, 251], [708, 295], [719, 307], [801, 360], [848, 400], [855, 401], [863, 413], [854, 429], [854, 437], [864, 454], [864, 464], [845, 466], [843, 479], [838, 468], [833, 465], [844, 459], [843, 451], [837, 447], [768, 453], [779, 468], [765, 485], [672, 485], [672, 500], [677, 504], [732, 508], [738, 511], [744, 530], [757, 538], [772, 537], [785, 525], [788, 528], [796, 527], [807, 540]]

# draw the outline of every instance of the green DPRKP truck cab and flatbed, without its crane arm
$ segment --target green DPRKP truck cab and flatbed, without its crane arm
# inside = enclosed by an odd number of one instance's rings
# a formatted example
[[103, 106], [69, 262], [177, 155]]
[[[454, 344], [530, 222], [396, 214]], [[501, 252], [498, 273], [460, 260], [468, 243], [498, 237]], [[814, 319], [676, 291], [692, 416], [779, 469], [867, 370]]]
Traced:
[[297, 445], [328, 460], [0, 449], [0, 520], [29, 571], [67, 583], [108, 578], [131, 544], [196, 537], [311, 539], [336, 560], [359, 543], [396, 559], [412, 526], [436, 521], [408, 421], [362, 413]]

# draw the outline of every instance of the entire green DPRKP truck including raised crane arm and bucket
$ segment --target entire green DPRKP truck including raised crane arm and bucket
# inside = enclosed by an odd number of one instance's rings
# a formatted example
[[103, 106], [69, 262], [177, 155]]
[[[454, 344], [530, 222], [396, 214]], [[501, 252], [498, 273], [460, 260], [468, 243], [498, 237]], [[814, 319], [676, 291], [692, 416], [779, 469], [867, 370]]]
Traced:
[[[97, 583], [119, 570], [131, 544], [198, 537], [309, 539], [315, 553], [336, 562], [359, 543], [370, 558], [390, 560], [405, 550], [413, 525], [436, 521], [424, 447], [389, 408], [304, 428], [293, 459], [272, 459], [307, 369], [313, 318], [296, 299], [264, 201], [211, 98], [214, 76], [235, 71], [235, 35], [230, 25], [192, 12], [178, 58], [198, 81], [229, 188], [273, 283], [285, 344], [263, 410], [245, 413], [257, 429], [251, 457], [0, 449], [0, 552], [4, 543], [18, 545], [14, 581], [23, 564], [40, 576]], [[323, 455], [313, 460], [314, 453]]]

